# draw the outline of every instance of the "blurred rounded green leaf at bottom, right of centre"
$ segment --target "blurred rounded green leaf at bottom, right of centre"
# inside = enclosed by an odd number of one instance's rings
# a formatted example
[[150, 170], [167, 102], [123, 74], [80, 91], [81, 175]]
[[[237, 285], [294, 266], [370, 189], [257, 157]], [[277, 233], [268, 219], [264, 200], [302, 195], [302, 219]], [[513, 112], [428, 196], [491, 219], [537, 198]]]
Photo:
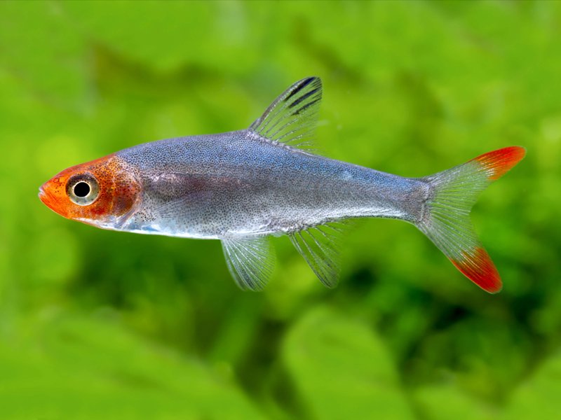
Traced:
[[283, 357], [306, 418], [414, 418], [381, 339], [344, 314], [309, 311], [288, 332]]

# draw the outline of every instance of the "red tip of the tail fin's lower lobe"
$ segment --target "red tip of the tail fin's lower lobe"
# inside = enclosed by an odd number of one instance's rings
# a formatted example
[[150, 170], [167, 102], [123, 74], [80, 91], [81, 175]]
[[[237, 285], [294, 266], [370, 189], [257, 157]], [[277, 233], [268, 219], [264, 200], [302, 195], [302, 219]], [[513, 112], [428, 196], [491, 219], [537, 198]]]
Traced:
[[462, 252], [461, 260], [450, 258], [450, 261], [464, 276], [483, 290], [489, 293], [499, 293], [503, 288], [499, 272], [496, 271], [496, 267], [485, 249], [478, 247], [473, 250], [473, 253]]

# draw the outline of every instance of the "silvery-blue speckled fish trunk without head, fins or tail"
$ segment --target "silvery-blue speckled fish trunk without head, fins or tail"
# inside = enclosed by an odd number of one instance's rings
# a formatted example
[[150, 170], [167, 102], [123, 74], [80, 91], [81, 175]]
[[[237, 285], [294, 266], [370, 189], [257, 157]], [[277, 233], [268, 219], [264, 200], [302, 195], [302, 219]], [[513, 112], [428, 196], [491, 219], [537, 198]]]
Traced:
[[241, 130], [116, 154], [142, 197], [118, 230], [198, 239], [290, 233], [346, 218], [416, 221], [430, 185], [313, 155]]

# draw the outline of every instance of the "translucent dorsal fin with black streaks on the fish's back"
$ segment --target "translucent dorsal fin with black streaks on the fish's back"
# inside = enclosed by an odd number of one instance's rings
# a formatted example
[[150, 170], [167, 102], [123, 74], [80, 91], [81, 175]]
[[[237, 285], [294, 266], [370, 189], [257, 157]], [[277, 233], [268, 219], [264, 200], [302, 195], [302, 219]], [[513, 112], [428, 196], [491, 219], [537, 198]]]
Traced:
[[250, 126], [250, 131], [271, 141], [311, 145], [321, 102], [321, 80], [308, 77], [290, 86]]

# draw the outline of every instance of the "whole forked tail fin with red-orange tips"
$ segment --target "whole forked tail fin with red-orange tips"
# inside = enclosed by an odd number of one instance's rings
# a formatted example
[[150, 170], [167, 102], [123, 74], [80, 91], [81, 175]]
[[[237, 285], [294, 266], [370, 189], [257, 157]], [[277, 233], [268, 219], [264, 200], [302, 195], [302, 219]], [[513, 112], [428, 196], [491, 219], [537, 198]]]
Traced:
[[525, 154], [522, 147], [501, 148], [424, 177], [433, 189], [417, 227], [457, 269], [489, 293], [501, 290], [501, 277], [478, 240], [469, 213], [481, 191], [506, 174]]

